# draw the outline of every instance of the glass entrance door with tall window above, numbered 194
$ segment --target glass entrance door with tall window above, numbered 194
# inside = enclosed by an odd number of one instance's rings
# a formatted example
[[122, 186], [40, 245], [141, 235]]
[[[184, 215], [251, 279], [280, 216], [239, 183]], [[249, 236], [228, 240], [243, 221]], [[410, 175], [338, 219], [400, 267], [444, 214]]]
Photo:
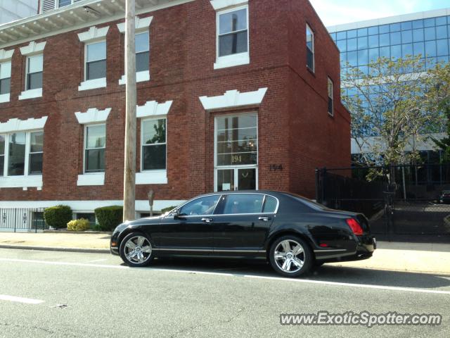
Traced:
[[257, 113], [217, 116], [214, 177], [217, 192], [257, 189]]

